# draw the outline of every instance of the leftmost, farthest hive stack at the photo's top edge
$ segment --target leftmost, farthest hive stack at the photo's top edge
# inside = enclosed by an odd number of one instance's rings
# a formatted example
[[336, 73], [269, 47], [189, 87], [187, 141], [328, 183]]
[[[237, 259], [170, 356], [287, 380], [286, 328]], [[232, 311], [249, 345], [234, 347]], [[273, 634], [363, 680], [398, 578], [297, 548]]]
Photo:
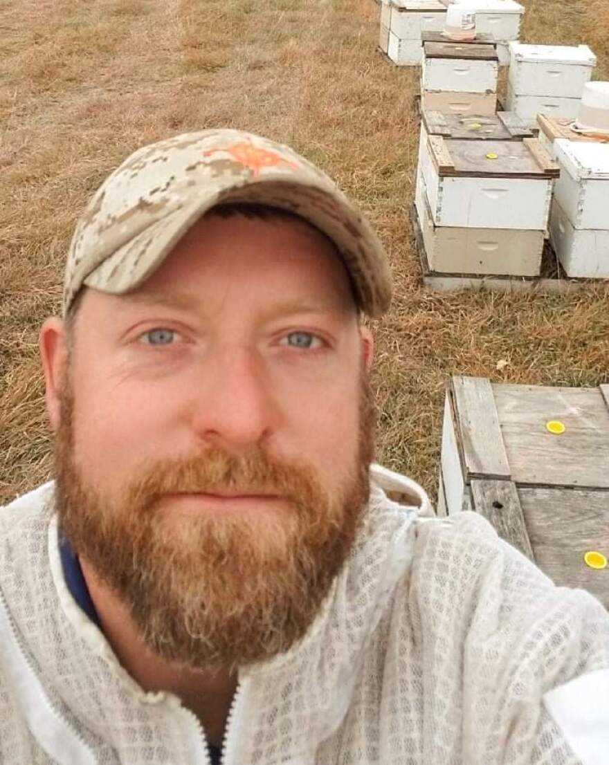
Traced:
[[383, 0], [379, 46], [401, 66], [419, 66], [421, 36], [444, 28], [446, 7], [441, 0]]

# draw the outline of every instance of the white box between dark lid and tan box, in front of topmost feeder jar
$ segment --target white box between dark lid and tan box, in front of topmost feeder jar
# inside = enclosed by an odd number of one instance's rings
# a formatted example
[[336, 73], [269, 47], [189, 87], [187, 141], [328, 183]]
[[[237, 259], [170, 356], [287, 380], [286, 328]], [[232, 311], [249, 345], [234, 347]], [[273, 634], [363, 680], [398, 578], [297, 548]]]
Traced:
[[497, 61], [428, 58], [423, 51], [421, 87], [442, 93], [497, 93]]

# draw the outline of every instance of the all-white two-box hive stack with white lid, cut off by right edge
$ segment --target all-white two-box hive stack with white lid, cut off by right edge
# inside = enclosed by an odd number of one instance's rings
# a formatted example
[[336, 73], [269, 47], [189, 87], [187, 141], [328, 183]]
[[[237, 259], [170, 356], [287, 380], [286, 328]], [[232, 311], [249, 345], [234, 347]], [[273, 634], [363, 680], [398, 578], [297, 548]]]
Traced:
[[556, 138], [550, 241], [568, 276], [609, 278], [609, 144]]

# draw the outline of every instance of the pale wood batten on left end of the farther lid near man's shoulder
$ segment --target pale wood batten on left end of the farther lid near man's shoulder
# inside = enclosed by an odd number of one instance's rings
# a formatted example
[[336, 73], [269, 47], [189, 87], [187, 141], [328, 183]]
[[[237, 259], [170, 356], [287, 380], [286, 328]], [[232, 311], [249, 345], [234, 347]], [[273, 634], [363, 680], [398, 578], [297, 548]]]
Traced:
[[510, 463], [503, 448], [490, 382], [485, 377], [455, 376], [451, 389], [466, 482], [471, 477], [510, 479]]

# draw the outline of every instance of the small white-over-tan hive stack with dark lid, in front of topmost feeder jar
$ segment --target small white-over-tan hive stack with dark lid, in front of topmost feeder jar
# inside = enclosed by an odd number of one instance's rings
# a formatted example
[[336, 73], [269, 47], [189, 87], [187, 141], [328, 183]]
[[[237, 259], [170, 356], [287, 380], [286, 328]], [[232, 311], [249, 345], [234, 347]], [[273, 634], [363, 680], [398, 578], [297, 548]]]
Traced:
[[424, 42], [421, 108], [453, 114], [497, 111], [499, 65], [494, 44]]

